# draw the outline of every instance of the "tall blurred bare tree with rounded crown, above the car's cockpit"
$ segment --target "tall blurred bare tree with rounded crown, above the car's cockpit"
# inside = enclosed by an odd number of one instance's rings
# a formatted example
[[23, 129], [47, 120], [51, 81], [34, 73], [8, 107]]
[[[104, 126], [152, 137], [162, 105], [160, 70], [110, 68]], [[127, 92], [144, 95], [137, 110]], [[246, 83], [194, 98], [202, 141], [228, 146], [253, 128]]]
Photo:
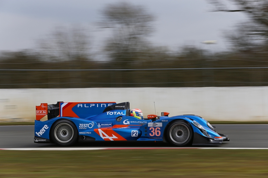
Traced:
[[102, 11], [102, 17], [100, 26], [111, 28], [113, 33], [105, 48], [112, 59], [131, 60], [134, 53], [146, 47], [145, 38], [153, 31], [154, 16], [143, 6], [110, 4]]

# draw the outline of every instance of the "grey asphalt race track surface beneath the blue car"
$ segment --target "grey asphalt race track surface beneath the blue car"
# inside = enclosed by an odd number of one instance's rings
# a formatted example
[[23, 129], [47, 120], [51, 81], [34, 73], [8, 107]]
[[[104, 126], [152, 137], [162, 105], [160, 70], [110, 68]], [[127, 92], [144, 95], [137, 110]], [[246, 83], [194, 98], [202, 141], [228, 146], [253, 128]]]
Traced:
[[[230, 139], [217, 148], [268, 148], [268, 124], [213, 125]], [[55, 144], [34, 143], [34, 126], [0, 126], [0, 148], [56, 148]], [[95, 141], [74, 147], [172, 147], [160, 141]], [[200, 147], [200, 146], [199, 146]]]

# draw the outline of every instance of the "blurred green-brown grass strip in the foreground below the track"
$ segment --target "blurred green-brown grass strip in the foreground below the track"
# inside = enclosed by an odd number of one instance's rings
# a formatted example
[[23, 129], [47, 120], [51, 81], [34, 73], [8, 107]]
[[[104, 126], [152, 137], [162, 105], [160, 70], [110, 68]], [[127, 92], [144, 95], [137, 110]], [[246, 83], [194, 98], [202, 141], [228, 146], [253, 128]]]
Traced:
[[0, 177], [268, 177], [267, 150], [0, 151]]

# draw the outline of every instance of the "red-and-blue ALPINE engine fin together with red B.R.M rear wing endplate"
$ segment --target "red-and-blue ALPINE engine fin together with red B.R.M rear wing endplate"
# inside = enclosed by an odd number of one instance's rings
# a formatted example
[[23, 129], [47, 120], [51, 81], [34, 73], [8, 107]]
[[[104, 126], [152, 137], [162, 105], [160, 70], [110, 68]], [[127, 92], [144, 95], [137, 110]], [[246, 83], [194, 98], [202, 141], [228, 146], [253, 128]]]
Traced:
[[36, 120], [40, 121], [48, 115], [48, 120], [55, 117], [87, 118], [103, 113], [105, 108], [116, 102], [57, 102], [57, 104], [41, 103], [36, 106]]

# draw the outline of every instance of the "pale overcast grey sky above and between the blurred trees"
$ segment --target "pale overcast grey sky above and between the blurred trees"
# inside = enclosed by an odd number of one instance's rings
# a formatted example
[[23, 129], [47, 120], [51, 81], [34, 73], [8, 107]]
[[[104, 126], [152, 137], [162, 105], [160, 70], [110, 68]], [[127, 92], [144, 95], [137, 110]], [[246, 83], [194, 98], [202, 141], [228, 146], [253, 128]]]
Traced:
[[[35, 48], [56, 26], [80, 24], [88, 29], [94, 46], [109, 37], [96, 27], [100, 10], [118, 0], [0, 0], [0, 51]], [[226, 49], [223, 31], [246, 17], [243, 13], [210, 12], [206, 0], [128, 0], [144, 5], [156, 16], [155, 32], [150, 40], [175, 50], [196, 45], [213, 50]], [[215, 45], [201, 44], [217, 40]]]

